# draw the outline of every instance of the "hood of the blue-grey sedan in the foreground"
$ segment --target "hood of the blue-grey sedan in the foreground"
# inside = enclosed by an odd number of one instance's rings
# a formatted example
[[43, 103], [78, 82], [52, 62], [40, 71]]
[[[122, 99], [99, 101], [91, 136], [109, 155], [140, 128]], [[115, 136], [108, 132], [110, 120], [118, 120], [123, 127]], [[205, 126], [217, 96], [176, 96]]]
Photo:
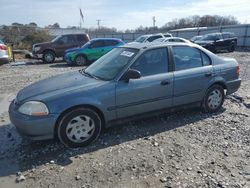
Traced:
[[79, 71], [70, 72], [29, 85], [18, 93], [16, 100], [21, 103], [22, 101], [27, 101], [37, 96], [44, 97], [52, 93], [63, 94], [67, 91], [72, 91], [81, 87], [89, 89], [102, 83], [103, 81], [84, 76]]

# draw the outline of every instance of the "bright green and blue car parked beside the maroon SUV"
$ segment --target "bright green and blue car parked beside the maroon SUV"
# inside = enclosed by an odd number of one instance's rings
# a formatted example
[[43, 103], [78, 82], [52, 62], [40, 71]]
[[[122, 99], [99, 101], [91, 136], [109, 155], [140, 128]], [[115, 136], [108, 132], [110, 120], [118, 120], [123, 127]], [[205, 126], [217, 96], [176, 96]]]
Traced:
[[92, 39], [81, 48], [71, 48], [65, 51], [64, 59], [68, 64], [84, 66], [93, 62], [113, 48], [124, 45], [121, 39], [98, 38]]

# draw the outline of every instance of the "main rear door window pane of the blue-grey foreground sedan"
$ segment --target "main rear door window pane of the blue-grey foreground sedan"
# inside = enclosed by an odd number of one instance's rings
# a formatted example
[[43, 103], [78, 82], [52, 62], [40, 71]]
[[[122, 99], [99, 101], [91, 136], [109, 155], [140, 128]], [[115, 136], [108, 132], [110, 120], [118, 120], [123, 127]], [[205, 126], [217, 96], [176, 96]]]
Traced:
[[200, 50], [196, 48], [174, 46], [173, 56], [176, 71], [202, 67]]

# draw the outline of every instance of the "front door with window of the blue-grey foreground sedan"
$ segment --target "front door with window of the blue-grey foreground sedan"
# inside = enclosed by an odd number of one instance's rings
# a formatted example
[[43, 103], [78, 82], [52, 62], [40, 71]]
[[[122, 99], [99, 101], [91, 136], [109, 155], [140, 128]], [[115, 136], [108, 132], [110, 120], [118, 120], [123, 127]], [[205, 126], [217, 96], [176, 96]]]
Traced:
[[141, 78], [118, 81], [116, 112], [118, 118], [160, 110], [172, 105], [173, 73], [168, 72], [167, 48], [145, 51], [131, 65]]

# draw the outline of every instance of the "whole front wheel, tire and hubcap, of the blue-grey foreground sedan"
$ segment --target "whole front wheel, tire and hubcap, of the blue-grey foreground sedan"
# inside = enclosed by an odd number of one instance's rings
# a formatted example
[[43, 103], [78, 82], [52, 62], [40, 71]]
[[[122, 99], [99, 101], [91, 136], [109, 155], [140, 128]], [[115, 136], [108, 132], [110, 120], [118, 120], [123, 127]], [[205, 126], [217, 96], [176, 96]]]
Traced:
[[77, 108], [60, 120], [57, 136], [67, 147], [83, 147], [96, 140], [102, 129], [100, 116], [88, 108]]

